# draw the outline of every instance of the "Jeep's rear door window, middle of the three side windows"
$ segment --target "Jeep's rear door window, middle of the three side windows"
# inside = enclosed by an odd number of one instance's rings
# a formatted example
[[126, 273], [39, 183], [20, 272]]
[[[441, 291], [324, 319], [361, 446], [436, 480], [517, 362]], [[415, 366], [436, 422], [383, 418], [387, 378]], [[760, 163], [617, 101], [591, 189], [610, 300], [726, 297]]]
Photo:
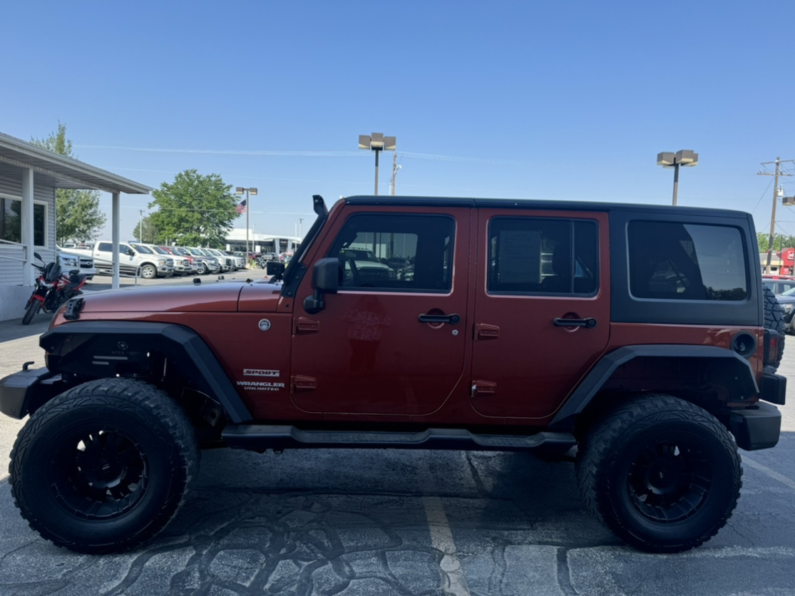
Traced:
[[593, 221], [494, 218], [489, 226], [491, 294], [593, 295], [599, 246]]

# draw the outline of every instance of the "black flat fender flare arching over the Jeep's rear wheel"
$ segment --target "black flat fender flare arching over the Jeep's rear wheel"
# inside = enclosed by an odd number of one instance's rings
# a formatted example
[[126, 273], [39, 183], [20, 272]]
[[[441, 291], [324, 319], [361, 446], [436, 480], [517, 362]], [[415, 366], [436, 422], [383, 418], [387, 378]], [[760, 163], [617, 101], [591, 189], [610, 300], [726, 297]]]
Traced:
[[550, 430], [572, 432], [577, 417], [591, 403], [615, 370], [634, 358], [697, 358], [715, 362], [727, 373], [731, 373], [732, 390], [744, 399], [759, 393], [759, 387], [750, 362], [740, 354], [718, 346], [692, 346], [680, 344], [653, 344], [622, 346], [605, 354], [580, 381], [568, 400], [560, 407], [549, 424]]

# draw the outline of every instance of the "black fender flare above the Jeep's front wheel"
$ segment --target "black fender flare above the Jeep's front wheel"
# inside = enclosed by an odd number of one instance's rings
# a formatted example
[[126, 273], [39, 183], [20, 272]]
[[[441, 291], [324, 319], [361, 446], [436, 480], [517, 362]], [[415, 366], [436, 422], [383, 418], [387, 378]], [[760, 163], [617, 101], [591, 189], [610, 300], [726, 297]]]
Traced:
[[143, 321], [75, 321], [53, 327], [39, 339], [47, 352], [52, 373], [81, 372], [86, 359], [101, 368], [103, 377], [114, 377], [119, 366], [142, 351], [157, 350], [180, 368], [191, 386], [213, 397], [233, 424], [252, 420], [246, 404], [235, 391], [227, 373], [200, 335], [174, 323]]

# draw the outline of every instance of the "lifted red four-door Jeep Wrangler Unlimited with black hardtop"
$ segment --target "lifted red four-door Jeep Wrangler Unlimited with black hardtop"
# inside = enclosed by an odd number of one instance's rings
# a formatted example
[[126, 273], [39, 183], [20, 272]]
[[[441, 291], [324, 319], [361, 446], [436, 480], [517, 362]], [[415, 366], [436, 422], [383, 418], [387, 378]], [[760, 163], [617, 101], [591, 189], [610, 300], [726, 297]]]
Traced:
[[750, 215], [370, 196], [315, 211], [278, 283], [56, 313], [46, 368], [0, 381], [0, 411], [30, 415], [10, 482], [42, 536], [141, 544], [205, 446], [576, 451], [619, 538], [682, 551], [735, 508], [737, 447], [778, 442], [784, 335]]

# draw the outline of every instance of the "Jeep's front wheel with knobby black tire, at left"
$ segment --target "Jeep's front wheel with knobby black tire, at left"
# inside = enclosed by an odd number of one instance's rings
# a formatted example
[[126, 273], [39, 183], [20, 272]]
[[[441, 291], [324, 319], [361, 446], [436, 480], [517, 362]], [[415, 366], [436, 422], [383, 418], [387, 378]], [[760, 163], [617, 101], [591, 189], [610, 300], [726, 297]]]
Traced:
[[126, 551], [176, 515], [198, 457], [188, 417], [165, 392], [129, 379], [90, 381], [22, 428], [11, 491], [30, 527], [57, 546]]

